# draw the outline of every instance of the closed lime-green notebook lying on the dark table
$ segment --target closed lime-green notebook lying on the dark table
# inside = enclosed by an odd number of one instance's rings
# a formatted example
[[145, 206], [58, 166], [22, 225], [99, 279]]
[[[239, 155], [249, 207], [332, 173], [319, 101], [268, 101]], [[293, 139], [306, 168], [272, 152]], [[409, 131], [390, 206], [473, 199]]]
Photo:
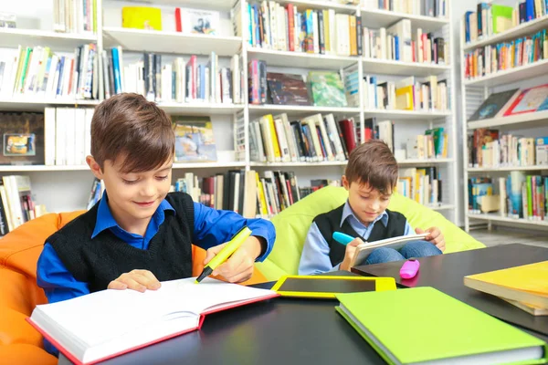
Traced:
[[389, 364], [543, 364], [546, 344], [433, 287], [339, 294], [337, 311]]

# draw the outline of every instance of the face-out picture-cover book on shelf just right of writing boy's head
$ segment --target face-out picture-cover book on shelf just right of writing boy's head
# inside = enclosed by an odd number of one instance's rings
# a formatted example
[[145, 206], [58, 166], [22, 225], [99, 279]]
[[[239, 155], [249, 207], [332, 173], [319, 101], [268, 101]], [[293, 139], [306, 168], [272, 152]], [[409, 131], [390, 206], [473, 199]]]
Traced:
[[172, 115], [174, 162], [216, 162], [216, 143], [209, 117]]

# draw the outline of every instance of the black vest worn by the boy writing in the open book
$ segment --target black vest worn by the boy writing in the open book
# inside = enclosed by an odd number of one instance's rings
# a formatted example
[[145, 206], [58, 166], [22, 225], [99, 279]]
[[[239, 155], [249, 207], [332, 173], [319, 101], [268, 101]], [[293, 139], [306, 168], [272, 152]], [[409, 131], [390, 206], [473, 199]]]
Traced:
[[110, 229], [91, 239], [99, 203], [50, 235], [46, 242], [72, 276], [90, 285], [90, 292], [106, 289], [112, 280], [133, 269], [149, 270], [160, 281], [190, 277], [194, 203], [186, 193], [168, 193], [165, 200], [175, 211], [165, 211], [163, 224], [148, 250], [128, 245]]

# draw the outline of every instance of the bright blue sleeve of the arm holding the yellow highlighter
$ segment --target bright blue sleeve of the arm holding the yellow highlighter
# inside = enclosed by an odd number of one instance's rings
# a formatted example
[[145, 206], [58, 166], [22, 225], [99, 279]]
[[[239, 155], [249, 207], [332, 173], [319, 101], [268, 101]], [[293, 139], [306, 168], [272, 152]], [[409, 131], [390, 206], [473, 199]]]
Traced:
[[263, 261], [272, 251], [276, 240], [274, 224], [264, 219], [247, 219], [232, 211], [221, 211], [194, 203], [195, 232], [193, 243], [205, 250], [221, 245], [237, 234], [242, 227], [248, 226], [261, 242], [262, 250], [258, 262]]

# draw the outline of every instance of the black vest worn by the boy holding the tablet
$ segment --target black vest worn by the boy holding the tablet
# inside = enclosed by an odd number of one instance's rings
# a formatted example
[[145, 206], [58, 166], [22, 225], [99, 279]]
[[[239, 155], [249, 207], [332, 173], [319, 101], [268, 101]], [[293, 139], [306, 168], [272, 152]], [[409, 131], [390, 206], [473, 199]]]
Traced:
[[[318, 215], [314, 218], [314, 223], [318, 226], [321, 235], [327, 241], [329, 245], [329, 258], [331, 259], [332, 266], [336, 266], [344, 259], [344, 253], [346, 246], [338, 243], [333, 239], [334, 232], [342, 232], [346, 235], [352, 235], [353, 237], [359, 237], [356, 231], [348, 223], [348, 219], [344, 220], [341, 225], [342, 210], [344, 204], [337, 209], [333, 209], [331, 212]], [[385, 238], [397, 237], [398, 235], [404, 235], [406, 231], [406, 217], [404, 214], [392, 212], [386, 209], [388, 214], [388, 224], [383, 224], [381, 221], [377, 221], [374, 224], [371, 235], [367, 239], [367, 242], [379, 241]]]

